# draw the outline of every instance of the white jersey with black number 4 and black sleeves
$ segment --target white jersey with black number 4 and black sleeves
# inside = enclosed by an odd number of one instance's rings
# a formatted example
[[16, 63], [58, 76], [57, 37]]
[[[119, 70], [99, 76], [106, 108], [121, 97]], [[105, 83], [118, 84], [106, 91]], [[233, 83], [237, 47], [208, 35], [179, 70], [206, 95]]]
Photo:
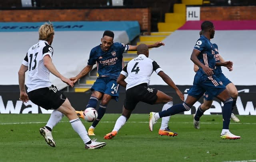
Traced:
[[143, 54], [132, 59], [121, 71], [121, 74], [126, 77], [126, 90], [142, 83], [149, 85], [150, 76], [153, 71], [157, 74], [163, 71], [156, 61], [146, 57]]

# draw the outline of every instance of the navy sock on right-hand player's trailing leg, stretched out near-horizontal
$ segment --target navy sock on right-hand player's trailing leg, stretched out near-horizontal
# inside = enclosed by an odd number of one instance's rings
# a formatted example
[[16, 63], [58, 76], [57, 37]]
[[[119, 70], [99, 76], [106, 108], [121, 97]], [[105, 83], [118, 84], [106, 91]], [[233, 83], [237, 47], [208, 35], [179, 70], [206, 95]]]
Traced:
[[170, 115], [175, 115], [184, 111], [189, 111], [190, 110], [190, 106], [188, 106], [186, 103], [183, 104], [178, 104], [178, 105], [173, 105], [172, 107], [170, 107], [167, 110], [164, 110], [162, 112], [159, 112], [159, 117], [168, 117]]

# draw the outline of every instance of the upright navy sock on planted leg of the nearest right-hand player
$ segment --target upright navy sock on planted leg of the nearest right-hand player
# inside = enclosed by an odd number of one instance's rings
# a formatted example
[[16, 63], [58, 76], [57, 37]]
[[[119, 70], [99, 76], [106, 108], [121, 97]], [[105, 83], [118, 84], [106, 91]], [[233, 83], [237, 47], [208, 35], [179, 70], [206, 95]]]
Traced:
[[224, 103], [224, 106], [222, 109], [223, 129], [229, 129], [231, 107], [232, 107], [233, 99], [230, 98], [223, 103]]

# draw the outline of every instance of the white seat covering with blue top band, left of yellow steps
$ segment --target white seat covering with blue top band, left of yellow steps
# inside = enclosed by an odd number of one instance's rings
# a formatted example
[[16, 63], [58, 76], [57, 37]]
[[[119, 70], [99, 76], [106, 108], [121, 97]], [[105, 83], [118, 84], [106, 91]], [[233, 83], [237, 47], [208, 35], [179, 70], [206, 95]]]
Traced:
[[[1, 38], [8, 38], [0, 40], [1, 44], [5, 44], [1, 47], [0, 53], [8, 53], [8, 57], [7, 55], [6, 57], [3, 57], [0, 60], [0, 63], [3, 67], [7, 67], [8, 64], [12, 62], [12, 66], [10, 66], [8, 71], [4, 68], [0, 69], [2, 75], [9, 76], [0, 81], [0, 85], [18, 85], [17, 71], [22, 63], [22, 59], [24, 59], [26, 55], [26, 51], [31, 46], [31, 43], [38, 41], [37, 26], [42, 25], [42, 23], [43, 22], [0, 23], [0, 27], [5, 27], [0, 28]], [[86, 66], [90, 50], [92, 47], [100, 44], [100, 39], [102, 38], [104, 30], [113, 30], [115, 33], [114, 41], [126, 44], [130, 43], [130, 41], [140, 34], [138, 22], [132, 21], [53, 22], [53, 24], [56, 27], [58, 26], [58, 28], [55, 28], [55, 36], [52, 44], [54, 47], [53, 61], [58, 70], [66, 77], [73, 77], [78, 71]], [[65, 28], [67, 24], [69, 26], [80, 26], [83, 24], [84, 28]], [[7, 26], [18, 26], [18, 28], [10, 30]], [[24, 41], [24, 38], [26, 38], [26, 41]], [[12, 45], [14, 44], [15, 48], [12, 48]], [[126, 61], [128, 61], [131, 58], [128, 57], [126, 59]], [[97, 77], [96, 73], [95, 77]], [[53, 75], [51, 75], [50, 79], [60, 89], [67, 87], [65, 83], [62, 83], [62, 81]], [[84, 83], [86, 83], [85, 80]]]

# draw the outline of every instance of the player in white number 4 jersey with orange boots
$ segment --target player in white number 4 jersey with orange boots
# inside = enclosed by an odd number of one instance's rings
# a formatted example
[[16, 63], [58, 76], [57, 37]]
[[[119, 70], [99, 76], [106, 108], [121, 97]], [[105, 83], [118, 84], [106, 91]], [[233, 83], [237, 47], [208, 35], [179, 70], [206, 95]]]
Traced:
[[[184, 100], [184, 95], [176, 87], [174, 82], [156, 61], [148, 58], [149, 51], [146, 44], [140, 44], [137, 47], [138, 57], [132, 59], [121, 71], [117, 83], [126, 88], [126, 97], [124, 100], [124, 107], [122, 115], [117, 119], [112, 132], [106, 134], [104, 139], [112, 139], [117, 132], [122, 128], [126, 121], [130, 118], [132, 111], [139, 102], [148, 104], [164, 103], [162, 110], [172, 107], [172, 97], [166, 95], [162, 91], [148, 87], [150, 83], [150, 76], [155, 71], [170, 87], [176, 90], [181, 100]], [[160, 135], [176, 136], [177, 133], [169, 129], [168, 122], [170, 117], [162, 119], [161, 127], [158, 131]]]

